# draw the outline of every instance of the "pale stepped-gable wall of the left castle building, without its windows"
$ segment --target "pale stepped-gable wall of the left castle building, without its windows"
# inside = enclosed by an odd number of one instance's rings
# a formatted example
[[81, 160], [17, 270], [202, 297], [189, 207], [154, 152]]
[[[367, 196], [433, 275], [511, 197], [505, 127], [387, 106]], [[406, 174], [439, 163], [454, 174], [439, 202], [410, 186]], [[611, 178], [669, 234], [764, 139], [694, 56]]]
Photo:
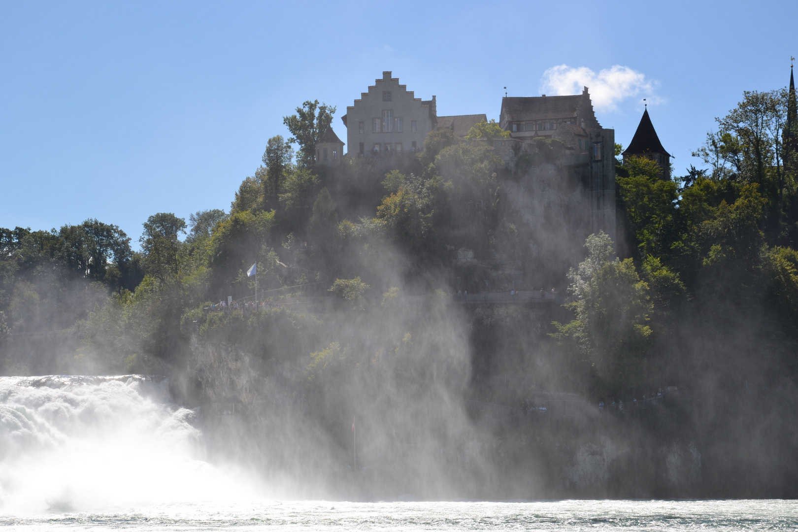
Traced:
[[[383, 99], [383, 93], [390, 92], [390, 101]], [[433, 97], [434, 100], [435, 97]], [[383, 111], [393, 113], [393, 131], [381, 131]], [[398, 132], [395, 120], [402, 119], [402, 131]], [[373, 120], [377, 119], [380, 126], [377, 132], [373, 130]], [[413, 120], [416, 122], [416, 131], [413, 132]], [[360, 131], [360, 123], [363, 132]], [[406, 85], [399, 85], [399, 79], [390, 77], [390, 73], [383, 73], [383, 79], [376, 80], [375, 85], [369, 87], [368, 93], [362, 93], [359, 100], [354, 100], [354, 105], [346, 108], [346, 145], [347, 155], [355, 157], [360, 155], [360, 144], [363, 144], [364, 155], [373, 155], [374, 144], [380, 145], [380, 154], [387, 155], [385, 144], [389, 144], [392, 151], [401, 143], [402, 151], [409, 152], [416, 143], [417, 151], [421, 151], [427, 133], [433, 130], [433, 119], [429, 116], [429, 104], [422, 104], [421, 98], [414, 97]]]

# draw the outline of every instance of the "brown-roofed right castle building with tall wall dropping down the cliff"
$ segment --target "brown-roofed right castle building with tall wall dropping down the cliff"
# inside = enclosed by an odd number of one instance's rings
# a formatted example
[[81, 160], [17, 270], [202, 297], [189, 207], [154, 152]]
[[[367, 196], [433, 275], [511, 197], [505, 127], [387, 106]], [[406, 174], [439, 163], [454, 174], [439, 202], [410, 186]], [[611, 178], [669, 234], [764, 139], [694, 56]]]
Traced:
[[[504, 97], [499, 124], [522, 146], [539, 138], [565, 144], [563, 164], [589, 196], [591, 231], [604, 231], [614, 240], [615, 131], [602, 128], [596, 120], [587, 87], [573, 96]], [[507, 155], [505, 160], [516, 157]]]

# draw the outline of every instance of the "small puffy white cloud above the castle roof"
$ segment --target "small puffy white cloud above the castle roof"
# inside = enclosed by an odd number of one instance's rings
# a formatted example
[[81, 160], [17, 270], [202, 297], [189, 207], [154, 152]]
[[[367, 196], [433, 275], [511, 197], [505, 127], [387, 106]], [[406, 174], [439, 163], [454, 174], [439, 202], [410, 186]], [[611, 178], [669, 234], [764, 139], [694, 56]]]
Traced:
[[591, 92], [593, 106], [597, 111], [617, 111], [618, 103], [629, 97], [646, 97], [648, 103], [659, 103], [654, 96], [656, 81], [628, 66], [614, 65], [602, 69], [598, 74], [587, 66], [574, 68], [568, 65], [553, 66], [543, 73], [540, 92], [551, 96], [578, 94], [583, 87]]

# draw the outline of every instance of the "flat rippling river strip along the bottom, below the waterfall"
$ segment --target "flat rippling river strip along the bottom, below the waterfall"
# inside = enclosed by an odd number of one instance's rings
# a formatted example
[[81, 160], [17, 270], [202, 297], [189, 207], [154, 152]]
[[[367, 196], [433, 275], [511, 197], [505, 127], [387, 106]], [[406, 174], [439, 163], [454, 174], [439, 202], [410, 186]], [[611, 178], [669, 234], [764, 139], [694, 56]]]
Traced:
[[794, 501], [260, 502], [0, 518], [26, 530], [796, 530]]

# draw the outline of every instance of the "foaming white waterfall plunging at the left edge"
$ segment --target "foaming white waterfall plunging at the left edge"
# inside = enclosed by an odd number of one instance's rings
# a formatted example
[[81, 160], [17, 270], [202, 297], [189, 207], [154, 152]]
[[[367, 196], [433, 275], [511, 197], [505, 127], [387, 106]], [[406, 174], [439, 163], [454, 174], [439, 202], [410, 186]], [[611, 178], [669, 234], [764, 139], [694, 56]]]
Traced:
[[147, 376], [0, 377], [0, 514], [239, 501], [204, 460], [196, 414]]

